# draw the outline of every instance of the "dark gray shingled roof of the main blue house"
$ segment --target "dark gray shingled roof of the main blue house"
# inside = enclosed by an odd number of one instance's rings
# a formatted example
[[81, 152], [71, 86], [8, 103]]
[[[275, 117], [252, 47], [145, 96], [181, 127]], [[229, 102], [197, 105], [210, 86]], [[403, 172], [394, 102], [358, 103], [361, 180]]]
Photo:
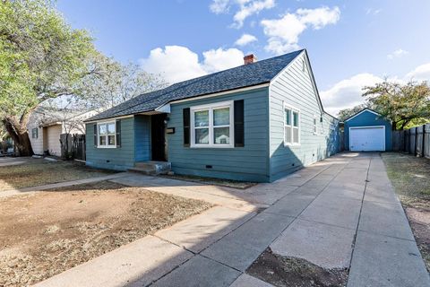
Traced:
[[152, 111], [173, 100], [183, 100], [219, 91], [229, 91], [261, 83], [269, 83], [274, 76], [296, 58], [303, 50], [279, 57], [271, 57], [253, 64], [240, 65], [225, 71], [204, 75], [166, 89], [151, 91], [127, 100], [112, 109], [107, 109], [87, 121], [109, 117], [121, 117]]

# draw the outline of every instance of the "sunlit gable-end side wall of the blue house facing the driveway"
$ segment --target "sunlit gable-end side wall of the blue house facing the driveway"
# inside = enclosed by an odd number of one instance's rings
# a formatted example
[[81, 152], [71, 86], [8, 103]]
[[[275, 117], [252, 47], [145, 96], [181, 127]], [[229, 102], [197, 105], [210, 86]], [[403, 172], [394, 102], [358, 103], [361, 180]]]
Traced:
[[[338, 121], [322, 113], [309, 67], [306, 65], [303, 71], [304, 61], [303, 53], [271, 83], [271, 181], [339, 152]], [[284, 145], [284, 103], [300, 110], [300, 145]], [[313, 130], [314, 117], [317, 118], [317, 135]]]

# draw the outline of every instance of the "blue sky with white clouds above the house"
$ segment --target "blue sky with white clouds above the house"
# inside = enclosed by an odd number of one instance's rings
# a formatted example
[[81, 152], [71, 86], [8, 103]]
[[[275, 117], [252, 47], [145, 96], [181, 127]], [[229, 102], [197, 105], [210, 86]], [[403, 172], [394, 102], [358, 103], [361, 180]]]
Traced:
[[430, 1], [59, 0], [57, 9], [106, 55], [169, 82], [297, 48], [307, 48], [332, 113], [385, 76], [430, 80]]

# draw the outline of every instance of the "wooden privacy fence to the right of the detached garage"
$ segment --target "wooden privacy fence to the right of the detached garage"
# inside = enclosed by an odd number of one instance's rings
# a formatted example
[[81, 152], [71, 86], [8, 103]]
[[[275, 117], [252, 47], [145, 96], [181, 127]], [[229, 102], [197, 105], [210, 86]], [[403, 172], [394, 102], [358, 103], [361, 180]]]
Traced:
[[430, 159], [430, 124], [393, 131], [392, 150]]

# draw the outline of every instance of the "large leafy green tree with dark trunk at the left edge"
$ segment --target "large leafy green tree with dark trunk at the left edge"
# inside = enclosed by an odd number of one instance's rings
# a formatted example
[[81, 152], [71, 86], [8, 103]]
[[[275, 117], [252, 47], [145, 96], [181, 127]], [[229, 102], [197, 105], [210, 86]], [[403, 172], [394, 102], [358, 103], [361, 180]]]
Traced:
[[72, 29], [50, 1], [0, 1], [0, 120], [22, 155], [32, 154], [31, 111], [47, 99], [82, 95], [96, 55], [87, 31]]

